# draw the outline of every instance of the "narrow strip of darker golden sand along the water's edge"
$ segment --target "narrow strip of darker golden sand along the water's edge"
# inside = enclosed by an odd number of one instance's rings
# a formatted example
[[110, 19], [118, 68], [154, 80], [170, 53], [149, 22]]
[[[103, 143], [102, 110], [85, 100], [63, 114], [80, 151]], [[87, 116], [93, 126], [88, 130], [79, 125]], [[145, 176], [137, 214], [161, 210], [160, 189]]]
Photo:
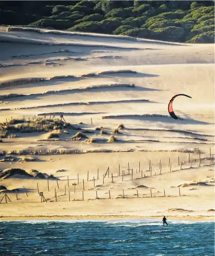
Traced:
[[[168, 221], [190, 220], [190, 221], [214, 221], [215, 216], [204, 215], [165, 215]], [[138, 216], [138, 215], [52, 215], [52, 216], [0, 216], [0, 221], [22, 221], [22, 220], [142, 220], [162, 219], [163, 215]]]

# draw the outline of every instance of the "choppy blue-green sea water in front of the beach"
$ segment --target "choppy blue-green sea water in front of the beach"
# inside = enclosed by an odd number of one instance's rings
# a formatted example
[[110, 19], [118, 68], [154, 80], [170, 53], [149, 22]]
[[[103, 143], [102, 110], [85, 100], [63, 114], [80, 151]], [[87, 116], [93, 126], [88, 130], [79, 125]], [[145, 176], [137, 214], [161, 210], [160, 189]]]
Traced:
[[0, 256], [214, 256], [213, 222], [0, 221]]

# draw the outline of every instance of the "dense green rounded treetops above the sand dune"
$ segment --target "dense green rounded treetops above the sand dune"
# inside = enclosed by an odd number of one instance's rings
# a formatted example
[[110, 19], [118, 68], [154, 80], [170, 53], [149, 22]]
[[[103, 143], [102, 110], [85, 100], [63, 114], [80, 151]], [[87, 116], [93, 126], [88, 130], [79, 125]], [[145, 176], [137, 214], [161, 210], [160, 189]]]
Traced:
[[173, 42], [214, 43], [214, 18], [214, 1], [0, 1], [0, 24]]

